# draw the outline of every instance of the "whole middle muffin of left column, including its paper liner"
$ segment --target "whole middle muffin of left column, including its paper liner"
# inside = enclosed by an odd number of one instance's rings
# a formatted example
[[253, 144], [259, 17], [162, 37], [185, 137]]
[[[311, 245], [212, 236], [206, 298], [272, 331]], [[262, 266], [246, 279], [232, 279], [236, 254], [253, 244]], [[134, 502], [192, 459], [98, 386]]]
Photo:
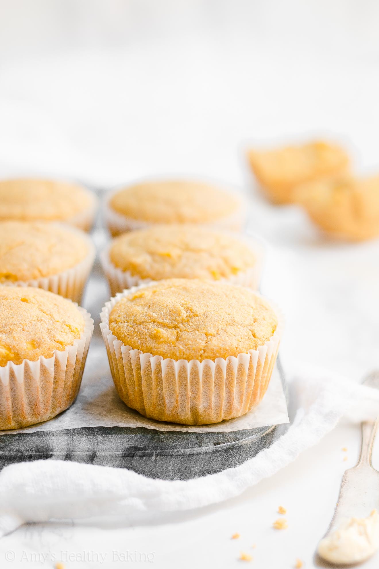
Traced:
[[95, 259], [80, 229], [43, 221], [0, 221], [0, 284], [44, 288], [79, 302]]

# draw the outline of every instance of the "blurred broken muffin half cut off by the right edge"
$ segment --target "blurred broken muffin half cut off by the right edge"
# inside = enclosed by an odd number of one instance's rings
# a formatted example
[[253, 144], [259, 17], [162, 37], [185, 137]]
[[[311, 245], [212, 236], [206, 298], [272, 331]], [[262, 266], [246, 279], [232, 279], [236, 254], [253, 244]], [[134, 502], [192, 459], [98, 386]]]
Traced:
[[379, 175], [303, 184], [296, 199], [316, 225], [335, 236], [351, 241], [379, 236]]

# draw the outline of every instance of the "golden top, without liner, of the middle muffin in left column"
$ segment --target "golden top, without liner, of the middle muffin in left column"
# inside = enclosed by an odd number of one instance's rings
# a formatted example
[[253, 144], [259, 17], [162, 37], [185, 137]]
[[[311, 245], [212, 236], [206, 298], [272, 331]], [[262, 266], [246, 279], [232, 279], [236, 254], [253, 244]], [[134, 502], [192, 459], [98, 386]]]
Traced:
[[79, 230], [53, 222], [0, 221], [0, 283], [50, 277], [88, 252]]

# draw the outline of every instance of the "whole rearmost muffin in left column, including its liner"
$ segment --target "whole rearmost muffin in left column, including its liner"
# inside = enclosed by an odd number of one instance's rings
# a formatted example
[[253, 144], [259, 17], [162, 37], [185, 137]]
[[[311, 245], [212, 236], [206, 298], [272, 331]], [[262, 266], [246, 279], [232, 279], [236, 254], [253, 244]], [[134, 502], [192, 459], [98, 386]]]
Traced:
[[89, 230], [97, 200], [78, 184], [55, 180], [0, 180], [0, 219], [65, 221]]

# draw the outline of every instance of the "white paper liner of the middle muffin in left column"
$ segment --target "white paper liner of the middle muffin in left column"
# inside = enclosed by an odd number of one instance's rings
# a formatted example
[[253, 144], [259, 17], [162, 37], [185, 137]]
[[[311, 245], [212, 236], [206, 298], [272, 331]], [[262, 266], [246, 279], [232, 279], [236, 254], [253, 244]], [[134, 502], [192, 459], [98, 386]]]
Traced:
[[85, 240], [88, 245], [88, 254], [80, 263], [49, 277], [40, 277], [39, 279], [30, 279], [29, 281], [6, 281], [0, 283], [0, 286], [34, 286], [55, 292], [56, 294], [79, 303], [95, 261], [96, 248], [86, 233], [79, 232], [76, 228], [68, 228], [66, 225], [64, 228], [77, 233], [78, 237]]

